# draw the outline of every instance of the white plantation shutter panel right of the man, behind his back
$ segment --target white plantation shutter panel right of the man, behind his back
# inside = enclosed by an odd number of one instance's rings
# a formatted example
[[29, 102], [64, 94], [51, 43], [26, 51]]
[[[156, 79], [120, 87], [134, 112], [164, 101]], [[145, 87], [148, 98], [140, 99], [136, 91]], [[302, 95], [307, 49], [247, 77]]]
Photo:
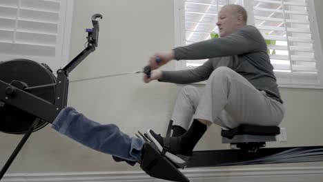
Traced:
[[266, 40], [272, 40], [268, 48], [279, 83], [322, 85], [322, 70], [320, 63], [317, 65], [322, 60], [315, 57], [315, 36], [311, 31], [313, 29], [306, 1], [255, 0], [253, 13], [255, 26]]

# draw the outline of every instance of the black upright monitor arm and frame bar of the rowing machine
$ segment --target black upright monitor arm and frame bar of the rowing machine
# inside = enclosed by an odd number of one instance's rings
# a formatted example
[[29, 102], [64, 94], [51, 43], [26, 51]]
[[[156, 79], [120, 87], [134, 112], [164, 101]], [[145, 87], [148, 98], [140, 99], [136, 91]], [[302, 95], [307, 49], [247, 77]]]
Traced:
[[[0, 90], [8, 90], [8, 92], [0, 93], [0, 103], [12, 105], [14, 108], [23, 110], [33, 116], [37, 117], [41, 121], [52, 123], [57, 114], [66, 107], [68, 96], [68, 74], [83, 61], [91, 52], [95, 51], [95, 47], [98, 45], [99, 37], [99, 21], [102, 19], [101, 14], [95, 14], [92, 16], [92, 29], [86, 29], [88, 32], [88, 45], [87, 47], [72, 59], [63, 69], [57, 70], [57, 79], [55, 85], [55, 101], [48, 102], [35, 94], [31, 94], [23, 88], [17, 88], [14, 85], [0, 80]], [[9, 61], [10, 62], [10, 61]], [[9, 92], [12, 90], [14, 93]], [[33, 105], [33, 107], [30, 107]]]

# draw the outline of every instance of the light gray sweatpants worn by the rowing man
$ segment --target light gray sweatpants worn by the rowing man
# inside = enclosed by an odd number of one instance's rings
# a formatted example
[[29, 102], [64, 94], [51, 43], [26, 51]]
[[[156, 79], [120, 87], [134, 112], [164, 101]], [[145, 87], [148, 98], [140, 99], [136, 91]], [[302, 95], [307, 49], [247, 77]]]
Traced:
[[257, 90], [240, 74], [227, 67], [213, 71], [204, 88], [187, 85], [175, 103], [173, 125], [188, 129], [192, 119], [204, 119], [224, 128], [241, 124], [279, 125], [282, 103]]

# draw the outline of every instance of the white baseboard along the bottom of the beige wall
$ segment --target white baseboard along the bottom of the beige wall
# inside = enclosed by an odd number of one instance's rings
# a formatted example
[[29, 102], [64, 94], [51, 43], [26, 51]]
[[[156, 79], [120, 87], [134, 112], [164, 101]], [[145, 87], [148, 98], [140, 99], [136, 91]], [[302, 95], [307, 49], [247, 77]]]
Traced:
[[[183, 170], [191, 182], [318, 182], [323, 181], [323, 167], [297, 168], [199, 168]], [[133, 172], [79, 172], [54, 174], [7, 174], [2, 182], [129, 182], [162, 181], [141, 171]]]

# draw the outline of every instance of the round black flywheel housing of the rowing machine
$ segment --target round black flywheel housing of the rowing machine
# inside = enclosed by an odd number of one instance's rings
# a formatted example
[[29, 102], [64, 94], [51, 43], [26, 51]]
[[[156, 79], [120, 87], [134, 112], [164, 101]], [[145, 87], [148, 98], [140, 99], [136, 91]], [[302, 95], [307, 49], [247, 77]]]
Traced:
[[[0, 62], [0, 80], [14, 86], [16, 86], [14, 83], [19, 83], [18, 85], [23, 85], [21, 86], [23, 88], [56, 83], [55, 75], [52, 74], [48, 66], [28, 59], [14, 59], [12, 61]], [[55, 101], [55, 86], [25, 91], [50, 103], [54, 103]], [[5, 90], [0, 90], [0, 92], [5, 92]], [[0, 103], [0, 132], [24, 134], [35, 119], [37, 119], [32, 114], [9, 105], [6, 101], [0, 101]], [[32, 103], [27, 104], [32, 107]], [[33, 130], [34, 132], [47, 125], [46, 121], [39, 121]]]

